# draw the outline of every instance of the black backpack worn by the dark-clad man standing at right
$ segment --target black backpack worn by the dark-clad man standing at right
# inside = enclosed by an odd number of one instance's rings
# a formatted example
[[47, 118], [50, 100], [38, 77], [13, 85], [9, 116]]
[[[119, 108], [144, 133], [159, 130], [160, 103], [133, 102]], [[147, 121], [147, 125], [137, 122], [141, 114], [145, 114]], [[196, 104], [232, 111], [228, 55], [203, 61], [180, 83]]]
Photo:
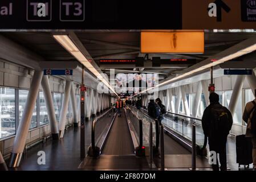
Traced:
[[232, 125], [233, 118], [226, 107], [217, 105], [212, 108], [209, 137], [227, 137]]

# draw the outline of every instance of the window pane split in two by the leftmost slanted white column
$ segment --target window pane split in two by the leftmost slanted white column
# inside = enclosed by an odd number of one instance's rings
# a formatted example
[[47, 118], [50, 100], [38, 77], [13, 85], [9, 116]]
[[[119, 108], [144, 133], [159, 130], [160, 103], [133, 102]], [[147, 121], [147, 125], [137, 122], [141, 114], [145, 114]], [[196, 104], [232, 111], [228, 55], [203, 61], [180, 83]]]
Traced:
[[[25, 104], [26, 104], [28, 94], [29, 94], [29, 90], [19, 90], [19, 121], [21, 121], [21, 117], [25, 109]], [[33, 114], [32, 114], [30, 129], [34, 129], [37, 126], [36, 121], [37, 119], [36, 119], [36, 104], [35, 104]]]

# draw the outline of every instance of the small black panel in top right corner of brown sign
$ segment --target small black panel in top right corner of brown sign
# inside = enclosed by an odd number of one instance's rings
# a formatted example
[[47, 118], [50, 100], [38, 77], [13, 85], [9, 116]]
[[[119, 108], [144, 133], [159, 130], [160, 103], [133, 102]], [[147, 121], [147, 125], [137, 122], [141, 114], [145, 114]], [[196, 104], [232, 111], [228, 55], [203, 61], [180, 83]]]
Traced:
[[241, 0], [243, 22], [256, 22], [256, 0]]

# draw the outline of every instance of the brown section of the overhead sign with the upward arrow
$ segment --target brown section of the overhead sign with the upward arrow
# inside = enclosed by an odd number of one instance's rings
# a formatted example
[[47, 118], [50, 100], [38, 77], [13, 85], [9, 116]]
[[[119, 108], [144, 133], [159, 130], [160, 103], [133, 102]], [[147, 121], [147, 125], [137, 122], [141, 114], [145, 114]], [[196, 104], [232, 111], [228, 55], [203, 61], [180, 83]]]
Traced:
[[255, 0], [182, 0], [182, 29], [256, 28]]

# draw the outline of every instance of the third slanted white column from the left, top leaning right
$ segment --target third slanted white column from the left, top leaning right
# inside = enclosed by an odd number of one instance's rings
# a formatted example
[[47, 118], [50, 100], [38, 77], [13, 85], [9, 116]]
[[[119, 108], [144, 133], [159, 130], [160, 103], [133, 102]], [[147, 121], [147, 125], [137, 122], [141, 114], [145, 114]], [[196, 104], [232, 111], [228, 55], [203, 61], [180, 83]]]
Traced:
[[59, 133], [60, 138], [64, 137], [64, 131], [67, 121], [67, 110], [68, 110], [68, 101], [70, 100], [70, 90], [71, 90], [71, 81], [66, 81], [65, 89], [64, 89], [64, 97], [62, 100], [62, 109], [60, 110], [60, 118], [59, 118]]

